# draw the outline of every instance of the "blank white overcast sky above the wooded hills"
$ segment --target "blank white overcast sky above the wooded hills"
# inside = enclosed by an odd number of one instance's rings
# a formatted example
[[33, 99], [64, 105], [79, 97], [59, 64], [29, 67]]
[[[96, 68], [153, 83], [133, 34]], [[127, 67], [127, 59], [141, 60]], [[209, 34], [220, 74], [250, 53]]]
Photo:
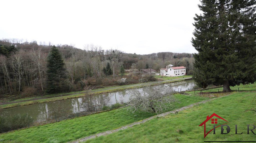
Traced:
[[197, 52], [199, 0], [3, 0], [0, 38], [74, 44], [126, 53]]

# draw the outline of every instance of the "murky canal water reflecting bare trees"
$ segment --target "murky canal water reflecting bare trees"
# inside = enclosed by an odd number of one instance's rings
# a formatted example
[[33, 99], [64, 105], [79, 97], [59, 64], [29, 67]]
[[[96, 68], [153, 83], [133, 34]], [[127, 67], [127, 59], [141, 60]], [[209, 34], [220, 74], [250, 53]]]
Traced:
[[[168, 85], [168, 86], [167, 86]], [[166, 84], [171, 91], [177, 92], [192, 90], [196, 83], [194, 80], [185, 80]], [[159, 85], [156, 85], [159, 86]], [[180, 91], [180, 90], [179, 90]], [[86, 115], [110, 108], [114, 104], [125, 104], [129, 102], [130, 90], [113, 93], [86, 95], [84, 97], [19, 106], [0, 110], [0, 115], [10, 117], [16, 114], [29, 114], [35, 123], [53, 122], [79, 115]]]

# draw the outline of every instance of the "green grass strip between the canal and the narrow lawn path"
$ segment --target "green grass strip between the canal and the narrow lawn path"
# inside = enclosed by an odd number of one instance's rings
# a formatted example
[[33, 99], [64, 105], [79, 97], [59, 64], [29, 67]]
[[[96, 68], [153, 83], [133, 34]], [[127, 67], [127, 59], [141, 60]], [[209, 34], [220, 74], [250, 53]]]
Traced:
[[[176, 102], [173, 109], [209, 99], [208, 97], [180, 94], [175, 94], [174, 96], [179, 102]], [[129, 113], [127, 108], [121, 108], [57, 123], [3, 133], [0, 134], [0, 140], [3, 142], [68, 142], [95, 133], [115, 129], [153, 115], [155, 114]]]

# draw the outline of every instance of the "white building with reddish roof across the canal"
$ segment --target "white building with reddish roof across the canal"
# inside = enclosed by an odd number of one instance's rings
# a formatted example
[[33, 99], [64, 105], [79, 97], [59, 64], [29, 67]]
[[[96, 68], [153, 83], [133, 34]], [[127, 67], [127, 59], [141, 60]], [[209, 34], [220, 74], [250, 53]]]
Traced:
[[184, 76], [186, 75], [186, 67], [184, 66], [177, 66], [172, 67], [173, 65], [168, 65], [166, 68], [160, 69], [161, 76], [168, 76], [168, 77], [177, 77], [177, 76]]

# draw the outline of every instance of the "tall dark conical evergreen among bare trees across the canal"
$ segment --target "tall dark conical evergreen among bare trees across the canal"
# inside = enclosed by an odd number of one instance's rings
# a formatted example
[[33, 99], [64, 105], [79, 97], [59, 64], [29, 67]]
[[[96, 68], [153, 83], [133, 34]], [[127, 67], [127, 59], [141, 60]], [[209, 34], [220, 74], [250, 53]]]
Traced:
[[62, 55], [53, 46], [47, 57], [47, 92], [55, 93], [67, 90], [67, 69]]

